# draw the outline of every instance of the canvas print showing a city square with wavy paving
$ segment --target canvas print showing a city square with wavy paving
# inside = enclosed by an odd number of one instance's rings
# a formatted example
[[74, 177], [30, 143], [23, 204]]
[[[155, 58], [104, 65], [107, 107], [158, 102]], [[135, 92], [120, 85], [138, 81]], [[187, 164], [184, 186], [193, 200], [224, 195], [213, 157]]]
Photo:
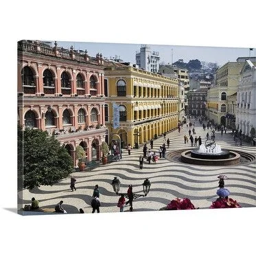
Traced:
[[256, 50], [17, 42], [18, 213], [255, 207]]

